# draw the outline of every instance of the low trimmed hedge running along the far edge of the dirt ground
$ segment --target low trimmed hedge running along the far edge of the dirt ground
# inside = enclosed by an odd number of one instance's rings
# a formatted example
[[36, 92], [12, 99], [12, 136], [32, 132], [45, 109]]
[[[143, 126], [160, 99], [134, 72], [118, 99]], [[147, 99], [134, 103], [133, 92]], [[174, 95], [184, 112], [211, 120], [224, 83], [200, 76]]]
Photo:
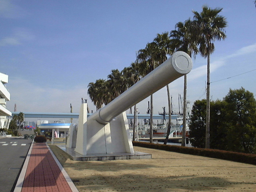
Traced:
[[176, 146], [176, 145], [164, 145], [164, 144], [154, 144], [147, 142], [132, 142], [133, 146], [159, 149], [171, 152], [178, 152], [190, 155], [198, 155], [205, 156], [211, 158], [218, 158], [223, 160], [230, 160], [235, 162], [242, 162], [256, 165], [256, 154], [246, 154], [246, 153], [238, 153], [217, 149], [205, 149], [205, 148], [194, 148], [194, 147], [184, 147], [184, 146]]

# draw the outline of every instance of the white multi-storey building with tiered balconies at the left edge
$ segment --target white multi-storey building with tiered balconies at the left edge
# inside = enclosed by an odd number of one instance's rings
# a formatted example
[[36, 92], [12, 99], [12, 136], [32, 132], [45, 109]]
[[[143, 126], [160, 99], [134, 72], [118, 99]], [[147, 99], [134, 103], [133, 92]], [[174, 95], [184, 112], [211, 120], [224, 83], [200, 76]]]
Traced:
[[10, 101], [10, 93], [5, 84], [8, 83], [8, 75], [0, 73], [0, 128], [9, 128], [12, 112], [6, 109], [6, 101]]

